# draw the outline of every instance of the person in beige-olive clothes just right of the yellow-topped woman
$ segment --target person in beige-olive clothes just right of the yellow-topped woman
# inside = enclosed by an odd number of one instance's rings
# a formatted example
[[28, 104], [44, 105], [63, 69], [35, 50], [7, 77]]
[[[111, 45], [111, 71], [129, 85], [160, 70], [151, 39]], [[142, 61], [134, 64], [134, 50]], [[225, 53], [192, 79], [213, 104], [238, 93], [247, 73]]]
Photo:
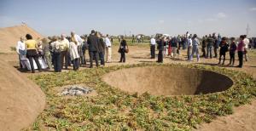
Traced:
[[43, 47], [43, 52], [44, 52], [44, 60], [46, 61], [49, 70], [52, 70], [52, 64], [51, 64], [51, 54], [49, 50], [49, 40], [48, 38], [44, 37], [42, 39], [42, 47]]

